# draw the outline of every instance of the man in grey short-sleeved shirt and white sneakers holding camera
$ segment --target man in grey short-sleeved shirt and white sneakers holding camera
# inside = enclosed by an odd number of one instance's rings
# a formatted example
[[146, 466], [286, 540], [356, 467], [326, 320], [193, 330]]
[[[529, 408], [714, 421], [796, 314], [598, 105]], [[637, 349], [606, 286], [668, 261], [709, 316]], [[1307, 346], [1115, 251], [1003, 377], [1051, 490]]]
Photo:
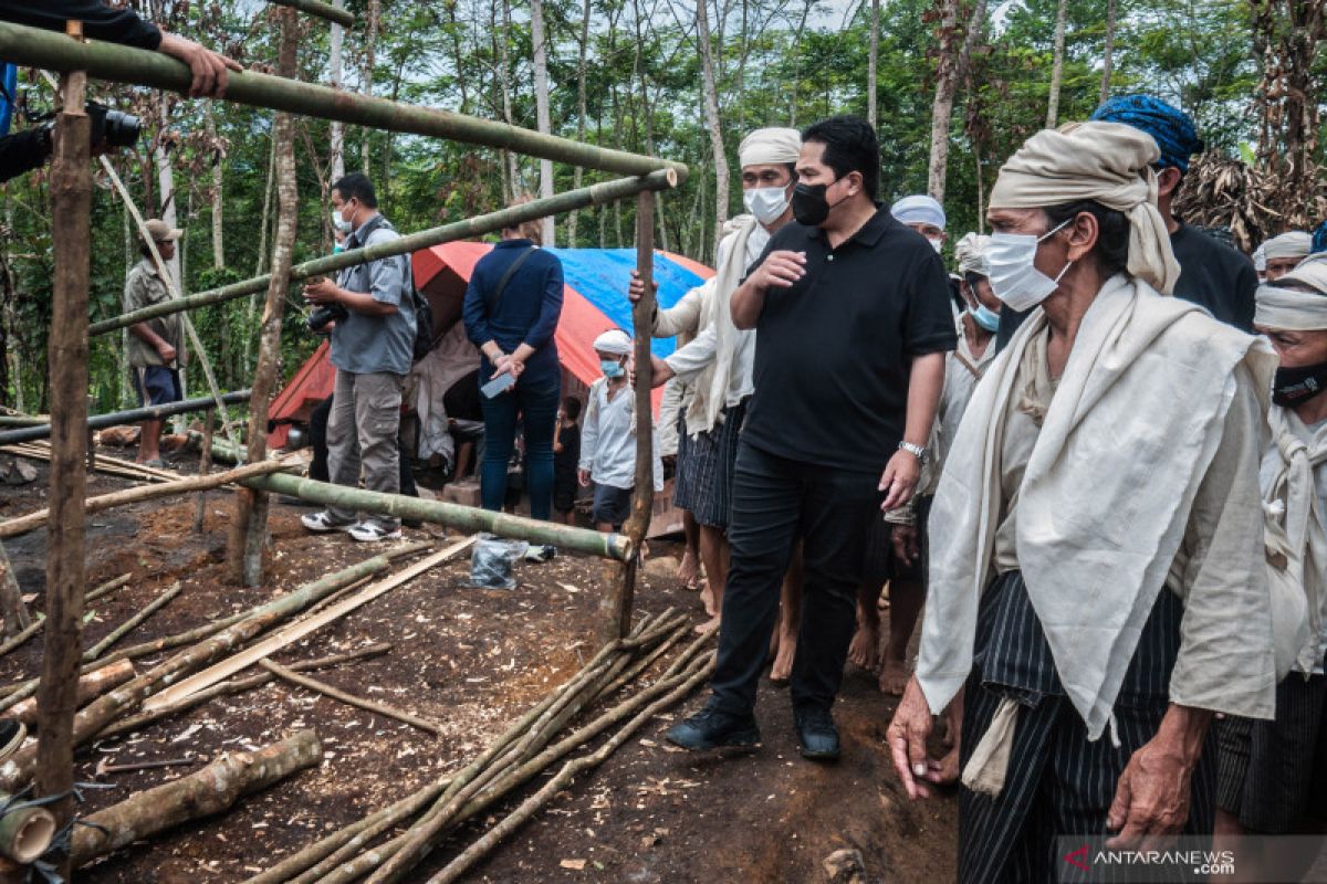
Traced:
[[[332, 223], [346, 232], [346, 250], [399, 237], [378, 213], [364, 172], [350, 172], [332, 187]], [[410, 257], [399, 254], [346, 268], [336, 282], [314, 280], [304, 288], [311, 305], [342, 307], [332, 330], [336, 386], [328, 420], [328, 472], [337, 485], [358, 485], [362, 465], [369, 490], [399, 493], [401, 390], [415, 338], [409, 273]], [[357, 541], [401, 537], [397, 518], [360, 520], [354, 510], [336, 506], [301, 521], [311, 531], [346, 531]]]

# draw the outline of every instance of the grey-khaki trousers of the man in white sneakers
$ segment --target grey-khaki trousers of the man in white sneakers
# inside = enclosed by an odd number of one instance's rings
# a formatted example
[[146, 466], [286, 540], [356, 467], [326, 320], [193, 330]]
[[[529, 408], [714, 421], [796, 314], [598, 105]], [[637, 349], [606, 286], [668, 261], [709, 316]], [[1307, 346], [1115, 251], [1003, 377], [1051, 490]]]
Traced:
[[[386, 371], [357, 375], [336, 371], [332, 415], [328, 419], [328, 476], [336, 485], [357, 488], [360, 469], [372, 492], [401, 492], [397, 431], [401, 427], [402, 375]], [[329, 506], [338, 522], [358, 518], [353, 509]], [[369, 521], [385, 529], [401, 527], [401, 520], [374, 516]]]

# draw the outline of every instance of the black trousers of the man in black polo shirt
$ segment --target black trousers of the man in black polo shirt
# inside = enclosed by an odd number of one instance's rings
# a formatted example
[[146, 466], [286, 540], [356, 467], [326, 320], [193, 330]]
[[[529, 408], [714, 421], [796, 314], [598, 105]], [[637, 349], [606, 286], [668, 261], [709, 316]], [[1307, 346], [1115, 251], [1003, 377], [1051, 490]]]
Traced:
[[792, 705], [828, 709], [856, 627], [867, 531], [880, 505], [878, 473], [778, 457], [739, 443], [723, 591], [723, 626], [710, 687], [718, 708], [746, 713], [770, 653], [779, 590], [800, 539], [805, 562]]

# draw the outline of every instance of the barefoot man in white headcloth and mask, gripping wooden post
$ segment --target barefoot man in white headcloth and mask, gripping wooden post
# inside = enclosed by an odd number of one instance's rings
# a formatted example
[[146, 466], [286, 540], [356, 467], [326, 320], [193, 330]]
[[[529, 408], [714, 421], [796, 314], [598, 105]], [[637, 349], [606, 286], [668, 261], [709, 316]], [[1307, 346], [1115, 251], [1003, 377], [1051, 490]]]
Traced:
[[[654, 359], [653, 382], [658, 386], [677, 378], [691, 391], [678, 440], [674, 504], [690, 512], [701, 526], [701, 561], [709, 580], [705, 603], [713, 618], [698, 627], [702, 631], [717, 624], [723, 606], [733, 467], [754, 390], [755, 333], [733, 325], [729, 302], [770, 235], [792, 219], [788, 197], [798, 180], [794, 166], [800, 150], [802, 135], [795, 129], [758, 129], [742, 139], [742, 197], [750, 213], [733, 219], [726, 228], [714, 277], [687, 293], [681, 309], [662, 310], [654, 322], [656, 337], [694, 334], [673, 355]], [[697, 292], [699, 304], [689, 306]], [[644, 285], [633, 278], [629, 297], [634, 302], [642, 293]]]

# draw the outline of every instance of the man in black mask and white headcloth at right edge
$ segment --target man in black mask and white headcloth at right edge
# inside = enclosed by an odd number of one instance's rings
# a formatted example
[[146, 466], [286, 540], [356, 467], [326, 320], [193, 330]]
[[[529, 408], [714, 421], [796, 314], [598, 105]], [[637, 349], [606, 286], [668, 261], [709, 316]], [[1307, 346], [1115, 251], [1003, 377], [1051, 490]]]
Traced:
[[[1327, 818], [1327, 254], [1261, 286], [1254, 322], [1281, 358], [1261, 480], [1269, 578], [1286, 594], [1274, 595], [1286, 603], [1283, 618], [1274, 610], [1278, 655], [1294, 664], [1277, 687], [1275, 721], [1218, 724], [1218, 850], [1225, 835], [1322, 831]], [[1245, 880], [1262, 881], [1302, 880], [1318, 847], [1304, 856], [1285, 843], [1231, 843]]]

